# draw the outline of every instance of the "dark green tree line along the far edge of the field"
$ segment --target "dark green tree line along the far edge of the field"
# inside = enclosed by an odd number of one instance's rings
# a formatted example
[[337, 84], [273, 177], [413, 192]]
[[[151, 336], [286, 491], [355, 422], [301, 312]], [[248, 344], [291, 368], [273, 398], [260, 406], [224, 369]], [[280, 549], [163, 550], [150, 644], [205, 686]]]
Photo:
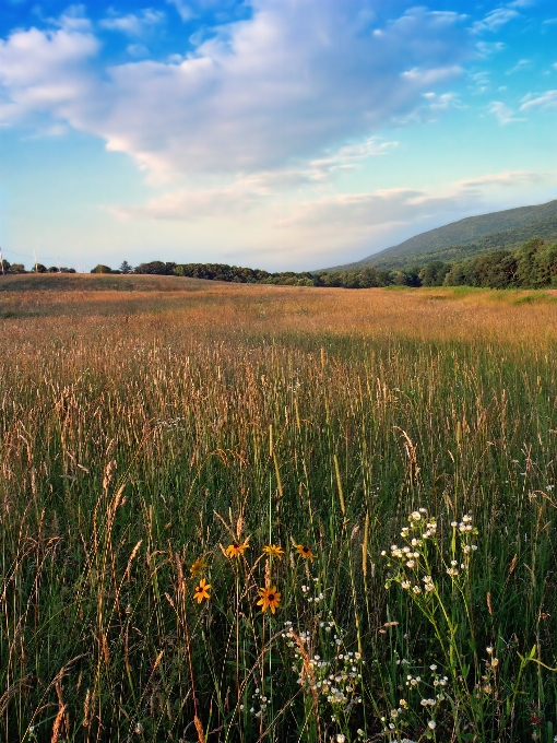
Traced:
[[[75, 273], [74, 269], [40, 263], [39, 273]], [[3, 261], [3, 273], [25, 273], [23, 266]], [[209, 279], [239, 284], [282, 286], [339, 286], [374, 288], [380, 286], [477, 286], [486, 288], [557, 287], [557, 243], [533, 238], [515, 250], [495, 250], [457, 262], [431, 261], [420, 267], [382, 270], [374, 266], [355, 271], [282, 271], [271, 273], [226, 263], [175, 263], [150, 261], [133, 268], [123, 261], [119, 269], [98, 264], [91, 273], [157, 274]]]

